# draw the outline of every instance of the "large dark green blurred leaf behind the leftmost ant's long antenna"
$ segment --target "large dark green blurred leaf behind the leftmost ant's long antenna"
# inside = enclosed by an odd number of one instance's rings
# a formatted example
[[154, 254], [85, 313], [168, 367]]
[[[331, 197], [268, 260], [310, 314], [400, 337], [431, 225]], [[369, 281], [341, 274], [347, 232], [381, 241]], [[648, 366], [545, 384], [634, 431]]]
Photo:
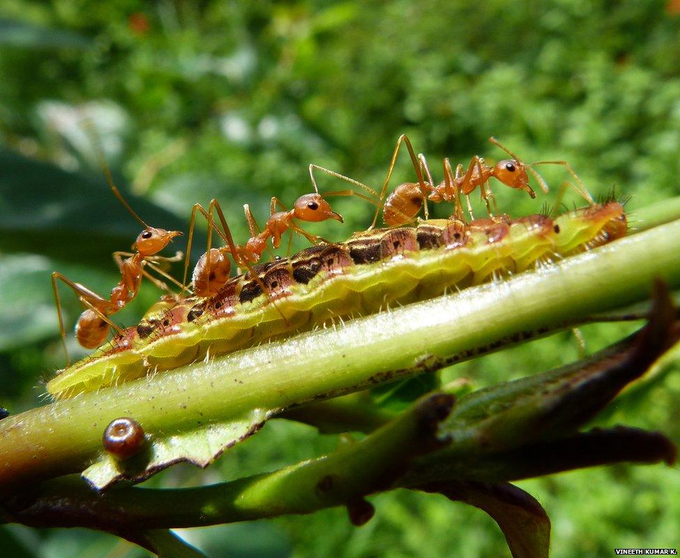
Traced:
[[[152, 226], [185, 223], [145, 199], [123, 193]], [[187, 218], [189, 211], [187, 211]], [[129, 250], [141, 226], [105, 183], [0, 150], [0, 251], [110, 265], [111, 252]], [[196, 239], [201, 246], [205, 237]]]

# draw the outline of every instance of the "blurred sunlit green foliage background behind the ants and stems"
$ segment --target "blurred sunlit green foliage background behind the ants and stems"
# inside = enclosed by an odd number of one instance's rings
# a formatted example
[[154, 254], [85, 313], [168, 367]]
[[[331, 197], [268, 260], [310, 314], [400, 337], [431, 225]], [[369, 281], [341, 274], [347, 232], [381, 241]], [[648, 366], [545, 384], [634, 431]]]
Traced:
[[[150, 224], [186, 229], [191, 205], [217, 197], [237, 239], [247, 232], [241, 205], [263, 222], [272, 195], [290, 205], [309, 191], [311, 162], [379, 187], [401, 133], [435, 179], [444, 156], [501, 158], [490, 135], [527, 161], [568, 160], [594, 193], [633, 195], [633, 224], [636, 207], [680, 192], [674, 0], [0, 0], [0, 17], [0, 405], [11, 412], [36, 405], [38, 378], [63, 364], [49, 273], [106, 294], [118, 280], [109, 253], [139, 232], [105, 187], [83, 118]], [[395, 185], [411, 179], [408, 165], [400, 159]], [[553, 186], [566, 178], [560, 167], [541, 172]], [[495, 191], [513, 214], [539, 209], [539, 200]], [[368, 225], [371, 206], [332, 201], [346, 225], [313, 232], [341, 239]], [[155, 297], [144, 289], [120, 321], [136, 321]], [[63, 298], [72, 324], [79, 306]], [[585, 338], [594, 349], [624, 331], [591, 326]], [[564, 334], [445, 376], [484, 385], [576, 356]], [[663, 376], [641, 405], [624, 401], [607, 420], [679, 440], [679, 395], [678, 375]], [[334, 444], [275, 421], [207, 472], [177, 467], [161, 481], [234, 478]], [[523, 486], [553, 518], [555, 557], [680, 541], [677, 469], [615, 467]], [[472, 508], [405, 492], [374, 503], [376, 518], [360, 529], [330, 510], [184, 534], [213, 557], [507, 555], [500, 531]], [[0, 544], [17, 556], [64, 556], [67, 546], [70, 555], [144, 555], [86, 531], [3, 528]]]

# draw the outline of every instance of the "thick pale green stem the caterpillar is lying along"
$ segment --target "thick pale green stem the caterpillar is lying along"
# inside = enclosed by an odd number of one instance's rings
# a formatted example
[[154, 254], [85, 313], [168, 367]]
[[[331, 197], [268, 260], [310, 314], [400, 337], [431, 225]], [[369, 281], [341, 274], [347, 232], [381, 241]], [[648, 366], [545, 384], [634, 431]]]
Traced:
[[10, 416], [0, 422], [0, 490], [82, 471], [119, 416], [134, 417], [154, 436], [246, 409], [285, 409], [640, 301], [659, 276], [678, 287], [679, 239], [680, 221], [668, 223], [510, 280]]

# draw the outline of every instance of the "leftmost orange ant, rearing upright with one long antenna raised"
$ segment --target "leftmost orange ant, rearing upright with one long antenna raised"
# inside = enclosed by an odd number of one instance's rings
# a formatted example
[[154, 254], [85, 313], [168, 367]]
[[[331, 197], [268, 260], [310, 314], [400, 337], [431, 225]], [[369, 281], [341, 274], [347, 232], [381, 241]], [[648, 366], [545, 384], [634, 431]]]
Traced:
[[160, 273], [160, 275], [175, 282], [176, 285], [182, 286], [178, 281], [167, 275], [167, 273], [153, 263], [160, 261], [177, 262], [181, 259], [181, 252], [178, 252], [174, 257], [160, 257], [155, 255], [165, 248], [173, 238], [180, 236], [182, 233], [179, 231], [158, 229], [147, 225], [144, 220], [134, 212], [132, 207], [130, 207], [130, 204], [125, 201], [123, 195], [118, 191], [118, 188], [114, 185], [109, 167], [106, 164], [104, 165], [104, 170], [107, 182], [116, 198], [118, 198], [118, 201], [121, 202], [125, 209], [127, 209], [127, 211], [129, 211], [145, 228], [139, 233], [137, 240], [135, 240], [132, 245], [132, 250], [135, 250], [134, 252], [113, 253], [114, 262], [116, 262], [118, 269], [121, 271], [121, 280], [118, 281], [118, 285], [111, 289], [109, 299], [105, 299], [87, 287], [84, 287], [84, 285], [66, 278], [61, 273], [56, 271], [52, 273], [52, 289], [54, 290], [57, 316], [59, 317], [59, 329], [61, 331], [61, 340], [66, 353], [67, 363], [69, 362], [69, 359], [68, 350], [66, 349], [66, 333], [63, 325], [63, 317], [61, 316], [61, 299], [59, 297], [59, 289], [57, 289], [57, 279], [71, 287], [75, 294], [77, 294], [79, 300], [87, 307], [78, 318], [75, 326], [76, 338], [79, 344], [86, 349], [94, 349], [101, 345], [109, 334], [109, 327], [116, 329], [120, 333], [120, 329], [116, 324], [111, 322], [109, 316], [123, 309], [127, 303], [137, 296], [143, 277], [146, 277], [160, 289], [169, 292], [167, 285], [153, 276], [150, 276], [144, 269], [145, 266], [149, 266], [150, 269], [153, 269], [157, 273]]

